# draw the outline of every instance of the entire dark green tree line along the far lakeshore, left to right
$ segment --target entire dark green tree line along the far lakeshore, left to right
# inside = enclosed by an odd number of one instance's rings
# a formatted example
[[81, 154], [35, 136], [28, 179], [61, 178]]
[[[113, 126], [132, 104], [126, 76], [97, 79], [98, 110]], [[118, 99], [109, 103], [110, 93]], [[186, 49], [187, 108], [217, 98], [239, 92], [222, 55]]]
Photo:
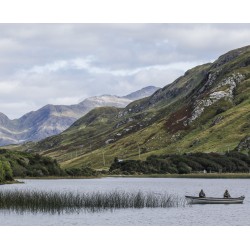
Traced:
[[151, 155], [145, 161], [114, 159], [108, 171], [97, 171], [87, 166], [61, 169], [58, 162], [39, 154], [0, 150], [0, 183], [15, 177], [72, 176], [97, 177], [100, 175], [135, 174], [188, 174], [249, 173], [250, 156], [230, 151], [219, 153], [190, 153]]

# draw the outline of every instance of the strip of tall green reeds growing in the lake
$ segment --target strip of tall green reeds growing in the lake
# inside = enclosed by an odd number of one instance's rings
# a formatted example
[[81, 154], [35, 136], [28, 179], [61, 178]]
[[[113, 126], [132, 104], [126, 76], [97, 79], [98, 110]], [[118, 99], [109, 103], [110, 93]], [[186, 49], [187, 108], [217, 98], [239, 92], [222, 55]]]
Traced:
[[186, 201], [176, 195], [128, 193], [111, 191], [106, 193], [61, 193], [45, 191], [0, 190], [0, 209], [32, 213], [70, 213], [81, 210], [96, 212], [126, 208], [170, 208], [184, 207]]

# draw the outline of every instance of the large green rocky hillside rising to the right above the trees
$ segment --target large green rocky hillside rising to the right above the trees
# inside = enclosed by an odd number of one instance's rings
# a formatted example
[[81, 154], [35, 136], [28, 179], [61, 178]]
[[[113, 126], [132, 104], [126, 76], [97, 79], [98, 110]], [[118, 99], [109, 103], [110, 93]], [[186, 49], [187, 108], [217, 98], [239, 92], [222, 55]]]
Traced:
[[[110, 166], [115, 157], [144, 160], [152, 154], [228, 150], [249, 154], [250, 46], [190, 69], [123, 109], [96, 108], [63, 133], [22, 149], [55, 157], [64, 167], [98, 169]], [[240, 162], [232, 166], [241, 167]]]

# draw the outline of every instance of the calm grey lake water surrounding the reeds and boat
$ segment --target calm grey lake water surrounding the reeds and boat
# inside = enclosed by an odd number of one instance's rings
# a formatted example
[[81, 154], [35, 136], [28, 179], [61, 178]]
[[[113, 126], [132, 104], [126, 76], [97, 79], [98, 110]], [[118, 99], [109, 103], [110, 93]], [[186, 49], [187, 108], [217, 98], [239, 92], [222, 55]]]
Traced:
[[124, 190], [197, 195], [201, 188], [207, 196], [222, 196], [228, 189], [232, 197], [245, 195], [244, 204], [193, 205], [184, 208], [121, 209], [79, 214], [16, 214], [0, 210], [0, 225], [83, 226], [250, 226], [250, 180], [246, 179], [169, 179], [169, 178], [103, 178], [84, 180], [22, 180], [25, 184], [3, 185], [0, 189], [93, 192]]

